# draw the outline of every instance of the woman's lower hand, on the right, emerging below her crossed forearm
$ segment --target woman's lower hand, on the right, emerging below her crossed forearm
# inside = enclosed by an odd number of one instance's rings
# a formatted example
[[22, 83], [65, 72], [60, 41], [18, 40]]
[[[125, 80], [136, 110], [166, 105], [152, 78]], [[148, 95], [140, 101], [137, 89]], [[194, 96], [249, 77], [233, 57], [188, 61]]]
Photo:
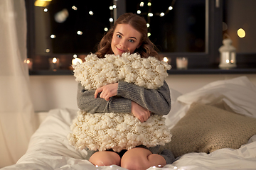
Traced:
[[146, 122], [146, 120], [150, 117], [150, 111], [146, 108], [143, 108], [139, 104], [132, 101], [132, 114], [138, 118], [142, 123]]

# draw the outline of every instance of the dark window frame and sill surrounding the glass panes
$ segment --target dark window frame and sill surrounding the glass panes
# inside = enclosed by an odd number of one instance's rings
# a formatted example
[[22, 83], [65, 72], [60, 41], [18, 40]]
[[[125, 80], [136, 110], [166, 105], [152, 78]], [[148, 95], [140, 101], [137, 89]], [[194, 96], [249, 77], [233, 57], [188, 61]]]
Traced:
[[[39, 70], [32, 70], [31, 75], [56, 75], [56, 74], [73, 74], [71, 71], [60, 70], [56, 72], [48, 72], [48, 58], [53, 57], [53, 55], [35, 55], [35, 28], [34, 28], [34, 11], [33, 5], [35, 0], [25, 0], [26, 1], [26, 13], [27, 13], [27, 54], [28, 58], [32, 58], [34, 62], [40, 62], [41, 68]], [[113, 4], [117, 5], [114, 9], [114, 20], [118, 16], [126, 12], [126, 1], [127, 0], [113, 0]], [[237, 53], [237, 64], [238, 67], [235, 68], [236, 71], [233, 72], [222, 72], [218, 68], [220, 53], [218, 48], [222, 45], [223, 40], [223, 1], [224, 0], [206, 0], [206, 52], [160, 52], [159, 55], [169, 57], [171, 59], [171, 66], [174, 72], [169, 74], [238, 74], [238, 73], [256, 73], [256, 54], [255, 53]], [[85, 54], [87, 55], [87, 54]], [[56, 57], [56, 55], [54, 55]], [[57, 56], [58, 57], [58, 56]], [[65, 57], [66, 61], [71, 61], [72, 55], [61, 55]], [[176, 70], [176, 57], [188, 57], [188, 69], [178, 71]], [[244, 68], [239, 70], [239, 68]], [[249, 69], [248, 69], [249, 68]], [[40, 71], [42, 69], [42, 71]], [[195, 72], [196, 69], [196, 72]]]

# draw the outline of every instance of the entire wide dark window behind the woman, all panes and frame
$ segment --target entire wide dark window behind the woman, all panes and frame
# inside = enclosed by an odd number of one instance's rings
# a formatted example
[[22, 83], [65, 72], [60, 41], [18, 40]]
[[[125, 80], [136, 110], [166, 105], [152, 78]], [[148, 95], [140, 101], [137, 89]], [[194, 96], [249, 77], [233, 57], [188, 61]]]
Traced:
[[[149, 38], [174, 69], [176, 57], [188, 57], [188, 70], [218, 69], [218, 48], [227, 35], [237, 48], [238, 67], [256, 64], [255, 0], [52, 0], [46, 7], [35, 2], [26, 0], [28, 57], [34, 70], [48, 69], [53, 57], [60, 59], [60, 69], [68, 69], [74, 55], [83, 59], [95, 52], [105, 30], [126, 12], [144, 16]], [[238, 37], [239, 28], [245, 38]]]

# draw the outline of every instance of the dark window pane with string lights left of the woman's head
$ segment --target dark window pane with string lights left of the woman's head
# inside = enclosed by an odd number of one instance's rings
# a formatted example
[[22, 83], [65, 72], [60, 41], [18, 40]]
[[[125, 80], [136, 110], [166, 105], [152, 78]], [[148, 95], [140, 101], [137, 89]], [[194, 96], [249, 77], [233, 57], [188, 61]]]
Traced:
[[[34, 70], [50, 68], [48, 60], [58, 57], [60, 69], [69, 69], [74, 56], [95, 52], [97, 43], [112, 26], [112, 0], [26, 0], [28, 56]], [[37, 4], [39, 3], [39, 4]], [[46, 4], [46, 6], [44, 6]]]

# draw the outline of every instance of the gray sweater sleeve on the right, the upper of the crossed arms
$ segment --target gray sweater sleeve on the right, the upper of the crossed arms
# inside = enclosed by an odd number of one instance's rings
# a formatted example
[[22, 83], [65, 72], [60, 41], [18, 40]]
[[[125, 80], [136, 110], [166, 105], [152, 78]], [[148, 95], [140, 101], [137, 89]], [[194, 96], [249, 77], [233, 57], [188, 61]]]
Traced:
[[128, 98], [159, 115], [167, 115], [171, 110], [171, 95], [166, 81], [159, 89], [144, 89], [135, 84], [119, 81], [117, 95]]

